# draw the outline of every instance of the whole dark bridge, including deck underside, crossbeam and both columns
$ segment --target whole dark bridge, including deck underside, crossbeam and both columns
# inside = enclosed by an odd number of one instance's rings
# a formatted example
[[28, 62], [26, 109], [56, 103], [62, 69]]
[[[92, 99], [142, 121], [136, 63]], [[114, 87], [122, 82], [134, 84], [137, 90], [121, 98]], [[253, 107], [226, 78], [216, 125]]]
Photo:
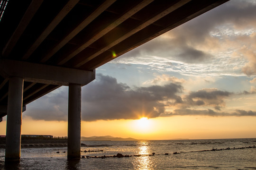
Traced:
[[62, 85], [69, 86], [68, 159], [80, 158], [81, 87], [95, 79], [95, 68], [226, 1], [2, 0], [0, 120], [8, 116], [6, 161], [20, 159], [26, 105]]

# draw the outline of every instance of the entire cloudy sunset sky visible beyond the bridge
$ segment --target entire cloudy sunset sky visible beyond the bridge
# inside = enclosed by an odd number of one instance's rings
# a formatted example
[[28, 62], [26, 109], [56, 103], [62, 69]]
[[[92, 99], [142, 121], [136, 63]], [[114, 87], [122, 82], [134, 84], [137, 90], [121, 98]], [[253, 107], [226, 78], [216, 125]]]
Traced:
[[[27, 105], [21, 133], [67, 136], [67, 110], [62, 86]], [[256, 137], [256, 0], [230, 0], [97, 68], [82, 87], [81, 136], [107, 135]]]

